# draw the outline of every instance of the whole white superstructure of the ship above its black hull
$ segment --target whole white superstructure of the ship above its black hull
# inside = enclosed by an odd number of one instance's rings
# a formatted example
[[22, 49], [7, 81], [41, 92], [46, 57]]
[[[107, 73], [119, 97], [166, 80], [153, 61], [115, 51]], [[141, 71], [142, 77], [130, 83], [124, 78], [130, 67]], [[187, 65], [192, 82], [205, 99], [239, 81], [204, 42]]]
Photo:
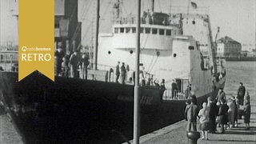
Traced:
[[[154, 3], [152, 4], [154, 5]], [[214, 67], [214, 49], [210, 19], [206, 14], [165, 14], [151, 10], [142, 14], [140, 63], [144, 75], [141, 79], [165, 79], [165, 96], [170, 97], [171, 83], [178, 84], [178, 93], [186, 95], [187, 89], [197, 96], [209, 94], [214, 89], [212, 75]], [[114, 6], [112, 32], [99, 34], [98, 70], [114, 69], [118, 62], [130, 67], [126, 83], [133, 79], [135, 59], [136, 21], [132, 15], [118, 18], [118, 5]], [[196, 21], [195, 21], [196, 19]], [[208, 42], [209, 57], [203, 58], [198, 42], [198, 31], [194, 26], [202, 25]], [[203, 26], [204, 25], [204, 26]], [[215, 72], [214, 72], [215, 71]], [[115, 77], [115, 74], [109, 75]], [[115, 79], [115, 78], [109, 78]], [[111, 82], [111, 81], [110, 81]], [[112, 81], [113, 82], [113, 81]], [[176, 95], [177, 96], [177, 95]], [[188, 95], [186, 95], [187, 97]]]

